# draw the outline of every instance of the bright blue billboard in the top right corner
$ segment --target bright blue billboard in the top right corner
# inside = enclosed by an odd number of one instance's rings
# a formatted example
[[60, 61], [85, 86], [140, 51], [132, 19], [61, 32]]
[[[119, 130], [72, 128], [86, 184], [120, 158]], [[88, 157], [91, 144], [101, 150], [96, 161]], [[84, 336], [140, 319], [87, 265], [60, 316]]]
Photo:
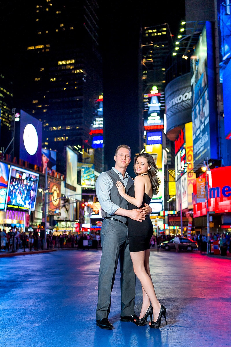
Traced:
[[217, 0], [220, 82], [223, 83], [223, 72], [231, 58], [231, 2]]

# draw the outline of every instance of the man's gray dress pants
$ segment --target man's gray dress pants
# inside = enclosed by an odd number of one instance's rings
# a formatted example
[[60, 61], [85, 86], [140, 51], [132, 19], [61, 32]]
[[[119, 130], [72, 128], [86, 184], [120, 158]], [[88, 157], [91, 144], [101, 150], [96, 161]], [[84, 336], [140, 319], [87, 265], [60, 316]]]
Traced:
[[121, 316], [134, 314], [135, 273], [128, 246], [125, 224], [104, 219], [101, 226], [102, 256], [99, 267], [98, 304], [96, 319], [108, 318], [111, 292], [119, 260], [121, 273]]

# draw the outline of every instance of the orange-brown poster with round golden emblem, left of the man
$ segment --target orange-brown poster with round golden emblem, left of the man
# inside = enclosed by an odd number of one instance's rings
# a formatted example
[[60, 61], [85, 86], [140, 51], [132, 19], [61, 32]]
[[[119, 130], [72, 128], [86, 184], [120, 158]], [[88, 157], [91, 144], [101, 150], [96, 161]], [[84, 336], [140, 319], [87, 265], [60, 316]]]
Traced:
[[60, 215], [61, 181], [53, 177], [48, 177], [47, 184], [49, 190], [48, 214]]

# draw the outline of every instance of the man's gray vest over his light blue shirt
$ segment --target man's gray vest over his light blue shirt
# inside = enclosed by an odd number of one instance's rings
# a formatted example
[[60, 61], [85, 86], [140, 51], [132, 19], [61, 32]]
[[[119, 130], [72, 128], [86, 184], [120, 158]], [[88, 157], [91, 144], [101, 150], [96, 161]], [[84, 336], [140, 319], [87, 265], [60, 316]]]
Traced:
[[[119, 192], [118, 189], [116, 187], [116, 182], [117, 181], [121, 181], [121, 179], [119, 178], [119, 175], [112, 169], [109, 171], [106, 171], [106, 174], [108, 174], [110, 176], [110, 178], [113, 181], [113, 186], [110, 189], [110, 199], [112, 200], [112, 202], [116, 205], [118, 205], [120, 208], [127, 210], [127, 201], [125, 200], [125, 198], [123, 198]], [[134, 184], [133, 179], [131, 179], [130, 176], [128, 176], [128, 181], [127, 181], [127, 185], [126, 185], [126, 190], [125, 193], [127, 193], [128, 189]], [[107, 212], [105, 212], [102, 209], [102, 218], [105, 217], [112, 217], [114, 219], [120, 220], [123, 223], [126, 223], [127, 218], [124, 216], [120, 216], [117, 214], [107, 214]]]

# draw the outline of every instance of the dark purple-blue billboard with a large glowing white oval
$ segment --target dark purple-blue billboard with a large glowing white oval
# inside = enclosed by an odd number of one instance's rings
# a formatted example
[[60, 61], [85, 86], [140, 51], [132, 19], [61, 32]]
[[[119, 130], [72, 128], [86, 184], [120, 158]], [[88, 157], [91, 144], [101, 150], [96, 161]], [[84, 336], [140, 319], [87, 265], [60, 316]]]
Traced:
[[15, 113], [15, 156], [41, 166], [42, 122], [23, 110]]

